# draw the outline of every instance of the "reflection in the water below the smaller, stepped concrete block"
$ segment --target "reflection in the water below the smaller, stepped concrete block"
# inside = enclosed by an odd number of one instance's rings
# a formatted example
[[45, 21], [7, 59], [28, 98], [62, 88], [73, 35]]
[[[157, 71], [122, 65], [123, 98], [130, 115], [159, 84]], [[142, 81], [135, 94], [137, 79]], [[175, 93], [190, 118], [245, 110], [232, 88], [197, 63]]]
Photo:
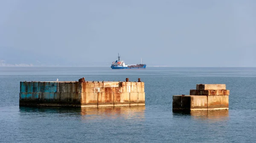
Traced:
[[228, 119], [228, 110], [223, 111], [192, 111], [192, 112], [173, 112], [176, 117], [192, 117], [199, 120], [224, 121]]

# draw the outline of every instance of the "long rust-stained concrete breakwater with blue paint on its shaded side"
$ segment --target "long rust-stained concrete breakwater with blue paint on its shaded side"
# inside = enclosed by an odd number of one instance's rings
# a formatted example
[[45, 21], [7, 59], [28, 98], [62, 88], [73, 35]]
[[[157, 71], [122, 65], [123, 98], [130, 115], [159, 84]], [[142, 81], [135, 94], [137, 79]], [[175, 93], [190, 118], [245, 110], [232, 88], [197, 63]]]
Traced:
[[20, 106], [118, 107], [145, 106], [144, 82], [20, 82]]

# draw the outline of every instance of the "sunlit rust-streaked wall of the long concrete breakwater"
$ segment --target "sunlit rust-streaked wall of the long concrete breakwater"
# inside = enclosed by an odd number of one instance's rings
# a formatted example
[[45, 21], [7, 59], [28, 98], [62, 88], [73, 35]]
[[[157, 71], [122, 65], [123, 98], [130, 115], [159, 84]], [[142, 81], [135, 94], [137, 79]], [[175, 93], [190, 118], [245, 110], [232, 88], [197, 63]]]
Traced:
[[81, 107], [145, 105], [144, 82], [84, 82]]

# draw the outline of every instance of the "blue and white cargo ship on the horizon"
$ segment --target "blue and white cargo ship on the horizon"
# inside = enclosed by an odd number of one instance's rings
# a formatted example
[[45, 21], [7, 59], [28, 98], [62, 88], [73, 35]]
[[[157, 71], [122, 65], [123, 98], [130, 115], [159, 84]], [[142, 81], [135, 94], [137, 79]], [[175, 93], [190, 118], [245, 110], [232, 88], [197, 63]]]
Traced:
[[140, 61], [140, 64], [125, 64], [124, 61], [120, 60], [120, 56], [118, 53], [118, 60], [112, 62], [111, 64], [112, 69], [140, 69], [140, 68], [146, 68], [146, 64], [143, 64], [142, 59]]

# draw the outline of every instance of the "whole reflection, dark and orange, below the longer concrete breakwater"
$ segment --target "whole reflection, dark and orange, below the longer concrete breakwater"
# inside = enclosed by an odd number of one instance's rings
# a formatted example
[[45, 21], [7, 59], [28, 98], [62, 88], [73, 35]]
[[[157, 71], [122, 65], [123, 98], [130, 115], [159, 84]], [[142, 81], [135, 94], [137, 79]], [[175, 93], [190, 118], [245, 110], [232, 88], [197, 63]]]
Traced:
[[82, 120], [97, 119], [140, 119], [145, 118], [145, 106], [138, 107], [104, 107], [104, 108], [68, 108], [68, 107], [20, 107], [20, 115], [81, 116]]

